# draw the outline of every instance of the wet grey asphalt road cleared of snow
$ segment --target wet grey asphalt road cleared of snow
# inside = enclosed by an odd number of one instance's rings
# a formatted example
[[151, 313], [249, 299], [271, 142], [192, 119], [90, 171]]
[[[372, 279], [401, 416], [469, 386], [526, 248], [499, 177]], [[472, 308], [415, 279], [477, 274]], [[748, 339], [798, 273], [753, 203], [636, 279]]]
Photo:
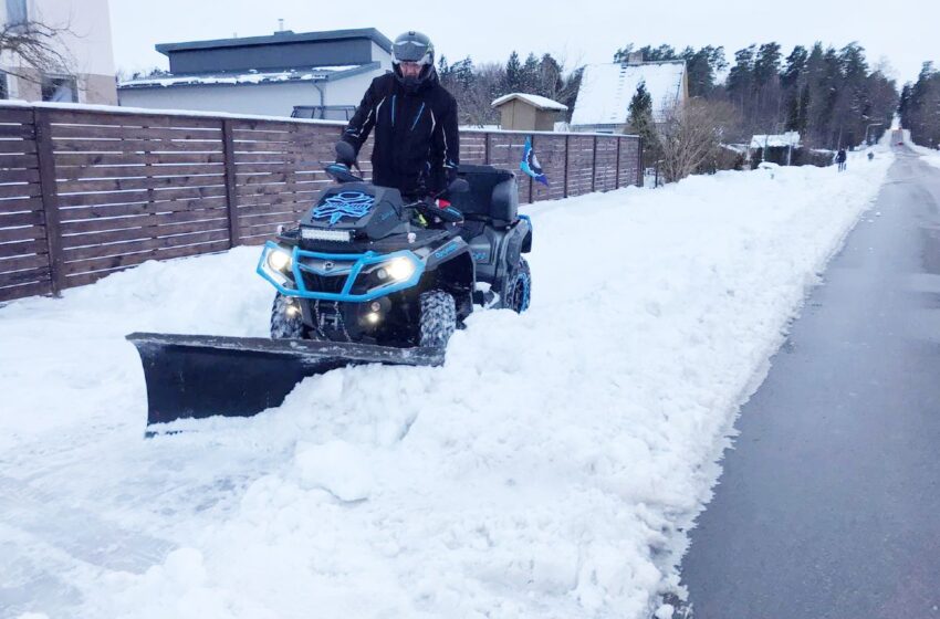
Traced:
[[898, 147], [742, 409], [682, 563], [694, 619], [940, 619], [938, 204]]

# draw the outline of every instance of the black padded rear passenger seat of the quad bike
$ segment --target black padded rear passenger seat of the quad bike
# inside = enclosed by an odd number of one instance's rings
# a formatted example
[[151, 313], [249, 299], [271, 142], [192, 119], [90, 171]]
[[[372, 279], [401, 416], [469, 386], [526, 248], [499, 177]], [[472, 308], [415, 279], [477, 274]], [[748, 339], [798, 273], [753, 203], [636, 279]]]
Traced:
[[505, 227], [519, 219], [519, 189], [513, 172], [492, 166], [461, 165], [457, 174], [467, 179], [470, 189], [455, 193], [450, 201], [468, 221]]

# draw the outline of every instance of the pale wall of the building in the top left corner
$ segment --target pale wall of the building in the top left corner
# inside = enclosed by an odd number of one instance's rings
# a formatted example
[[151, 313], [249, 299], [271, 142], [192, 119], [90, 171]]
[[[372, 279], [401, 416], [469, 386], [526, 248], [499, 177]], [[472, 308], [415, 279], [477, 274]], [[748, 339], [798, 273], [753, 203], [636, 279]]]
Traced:
[[[114, 51], [111, 35], [111, 13], [107, 0], [28, 0], [30, 20], [53, 28], [65, 29], [59, 51], [69, 59], [60, 74], [76, 77], [81, 103], [115, 104]], [[0, 2], [0, 18], [7, 21], [7, 4]], [[20, 57], [10, 53], [0, 55], [0, 69], [24, 72]], [[10, 76], [8, 87], [11, 98], [38, 101], [42, 98], [41, 77], [29, 71], [31, 80]]]

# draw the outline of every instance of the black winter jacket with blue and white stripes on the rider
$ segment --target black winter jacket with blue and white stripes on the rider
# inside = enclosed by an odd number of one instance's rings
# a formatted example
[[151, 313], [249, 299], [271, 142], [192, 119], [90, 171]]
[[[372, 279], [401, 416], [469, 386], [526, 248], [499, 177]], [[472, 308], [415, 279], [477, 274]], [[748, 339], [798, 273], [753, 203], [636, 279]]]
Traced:
[[395, 75], [373, 80], [356, 114], [343, 132], [358, 155], [369, 132], [373, 182], [403, 195], [436, 192], [456, 178], [460, 162], [457, 102], [431, 75], [409, 93]]

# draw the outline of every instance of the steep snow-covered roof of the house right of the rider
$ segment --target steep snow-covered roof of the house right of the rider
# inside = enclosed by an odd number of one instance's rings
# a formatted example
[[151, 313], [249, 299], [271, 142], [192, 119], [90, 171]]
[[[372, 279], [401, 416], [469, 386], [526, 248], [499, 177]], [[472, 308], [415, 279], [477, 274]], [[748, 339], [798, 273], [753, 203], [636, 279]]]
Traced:
[[682, 76], [685, 61], [645, 62], [640, 64], [588, 64], [584, 67], [572, 126], [624, 125], [629, 116], [630, 99], [640, 83], [652, 98], [652, 117], [662, 118], [669, 107], [685, 96]]

